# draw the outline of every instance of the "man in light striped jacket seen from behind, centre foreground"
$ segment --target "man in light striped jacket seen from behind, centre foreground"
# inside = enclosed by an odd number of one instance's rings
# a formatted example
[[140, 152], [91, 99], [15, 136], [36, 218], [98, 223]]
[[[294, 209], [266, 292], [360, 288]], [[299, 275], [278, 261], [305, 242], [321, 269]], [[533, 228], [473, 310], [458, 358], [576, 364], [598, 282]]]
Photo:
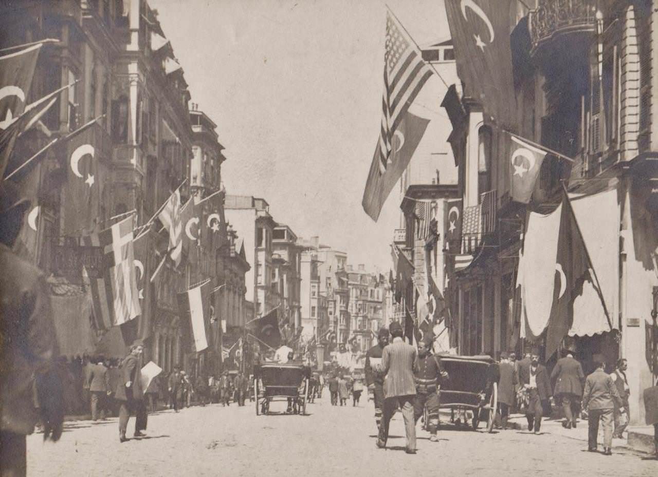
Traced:
[[384, 379], [384, 415], [379, 428], [377, 447], [386, 448], [388, 427], [397, 407], [401, 408], [407, 434], [408, 454], [416, 453], [416, 423], [413, 403], [416, 397], [413, 367], [416, 361], [416, 348], [403, 341], [402, 327], [393, 321], [389, 327], [393, 342], [384, 348], [382, 363], [374, 369], [386, 375]]

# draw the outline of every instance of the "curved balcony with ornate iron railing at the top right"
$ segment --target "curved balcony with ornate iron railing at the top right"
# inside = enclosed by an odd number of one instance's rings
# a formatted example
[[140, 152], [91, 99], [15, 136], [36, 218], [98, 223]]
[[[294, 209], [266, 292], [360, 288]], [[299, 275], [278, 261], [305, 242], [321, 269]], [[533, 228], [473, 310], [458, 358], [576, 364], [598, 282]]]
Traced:
[[528, 15], [532, 53], [567, 34], [596, 31], [596, 0], [540, 0]]

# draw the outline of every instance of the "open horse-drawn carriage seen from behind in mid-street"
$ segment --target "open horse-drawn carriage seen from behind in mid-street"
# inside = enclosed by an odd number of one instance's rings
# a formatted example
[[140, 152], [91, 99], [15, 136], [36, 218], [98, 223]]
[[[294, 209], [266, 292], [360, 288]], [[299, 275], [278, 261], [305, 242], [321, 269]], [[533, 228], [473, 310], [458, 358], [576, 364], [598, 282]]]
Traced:
[[311, 368], [297, 363], [264, 363], [253, 369], [256, 415], [268, 414], [272, 401], [288, 401], [295, 414], [306, 413]]

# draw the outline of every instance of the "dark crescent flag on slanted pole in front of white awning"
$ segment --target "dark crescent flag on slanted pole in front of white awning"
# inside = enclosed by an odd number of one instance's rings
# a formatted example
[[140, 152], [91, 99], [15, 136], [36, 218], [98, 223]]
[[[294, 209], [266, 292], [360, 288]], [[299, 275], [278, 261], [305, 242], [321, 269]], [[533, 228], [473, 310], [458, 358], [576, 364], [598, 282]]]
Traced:
[[553, 355], [563, 338], [567, 336], [573, 320], [573, 302], [582, 292], [583, 281], [591, 280], [589, 274], [592, 264], [588, 257], [569, 196], [563, 191], [555, 260], [553, 307], [546, 332], [546, 359]]

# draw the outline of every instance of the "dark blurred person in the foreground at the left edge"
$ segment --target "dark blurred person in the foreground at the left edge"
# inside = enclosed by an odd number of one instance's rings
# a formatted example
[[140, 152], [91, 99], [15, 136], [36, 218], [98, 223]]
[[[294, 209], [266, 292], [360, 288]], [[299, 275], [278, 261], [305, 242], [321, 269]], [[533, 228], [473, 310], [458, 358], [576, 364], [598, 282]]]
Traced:
[[0, 181], [0, 468], [3, 477], [26, 475], [26, 436], [34, 432], [39, 417], [43, 440], [59, 440], [64, 420], [63, 390], [56, 361], [59, 346], [45, 277], [11, 250], [28, 208], [30, 202], [22, 198], [14, 183]]

